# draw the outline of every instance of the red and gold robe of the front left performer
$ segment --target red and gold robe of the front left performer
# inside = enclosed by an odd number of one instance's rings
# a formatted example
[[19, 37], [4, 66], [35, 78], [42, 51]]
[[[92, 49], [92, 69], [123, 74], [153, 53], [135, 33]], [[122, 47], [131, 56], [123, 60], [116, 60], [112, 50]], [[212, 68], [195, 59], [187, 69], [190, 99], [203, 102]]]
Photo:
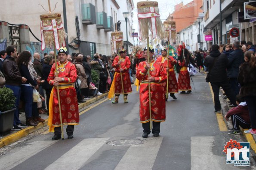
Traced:
[[[78, 125], [79, 124], [79, 110], [77, 103], [77, 92], [73, 83], [77, 79], [76, 67], [73, 63], [66, 61], [61, 64], [57, 62], [58, 77], [64, 78], [63, 82], [59, 82], [59, 97], [62, 112], [63, 125]], [[53, 86], [54, 78], [56, 77], [56, 66], [52, 65], [51, 72], [47, 81]], [[54, 131], [54, 127], [61, 126], [59, 115], [59, 103], [57, 95], [57, 86], [52, 88], [49, 100], [49, 131]]]

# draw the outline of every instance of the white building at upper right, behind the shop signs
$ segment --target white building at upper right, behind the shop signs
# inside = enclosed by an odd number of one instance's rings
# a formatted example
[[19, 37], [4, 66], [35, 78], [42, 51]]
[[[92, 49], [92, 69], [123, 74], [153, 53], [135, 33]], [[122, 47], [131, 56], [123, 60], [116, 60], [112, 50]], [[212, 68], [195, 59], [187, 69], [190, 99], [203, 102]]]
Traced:
[[[220, 0], [204, 0], [203, 10], [204, 10], [204, 34], [212, 35], [213, 41], [208, 42], [208, 45], [213, 44], [227, 44], [232, 43], [234, 40], [247, 40], [253, 41], [253, 24], [250, 25], [252, 28], [248, 30], [248, 24], [243, 24], [246, 27], [241, 27], [242, 25], [238, 23], [238, 12], [244, 10], [244, 2], [249, 0], [221, 0], [222, 9], [222, 29], [220, 26]], [[242, 30], [240, 37], [231, 37], [229, 31], [232, 27], [238, 27]], [[221, 35], [221, 30], [222, 35]], [[246, 36], [246, 32], [250, 32], [253, 36]], [[248, 34], [247, 34], [248, 35]], [[256, 34], [255, 34], [256, 37]], [[254, 42], [255, 43], [255, 42]]]

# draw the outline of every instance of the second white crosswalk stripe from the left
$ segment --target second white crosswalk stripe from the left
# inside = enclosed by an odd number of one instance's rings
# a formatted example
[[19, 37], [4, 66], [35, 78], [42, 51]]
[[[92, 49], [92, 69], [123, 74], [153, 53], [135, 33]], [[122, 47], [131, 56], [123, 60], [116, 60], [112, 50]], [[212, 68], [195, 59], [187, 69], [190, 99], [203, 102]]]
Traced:
[[[78, 170], [109, 138], [84, 139], [45, 170]], [[72, 163], [70, 162], [72, 160]]]

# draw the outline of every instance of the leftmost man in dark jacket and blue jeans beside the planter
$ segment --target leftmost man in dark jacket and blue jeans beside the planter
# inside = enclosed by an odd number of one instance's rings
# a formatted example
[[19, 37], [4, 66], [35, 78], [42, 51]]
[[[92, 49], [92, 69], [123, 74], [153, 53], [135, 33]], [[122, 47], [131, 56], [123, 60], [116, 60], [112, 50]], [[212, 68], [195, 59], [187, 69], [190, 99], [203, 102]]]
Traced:
[[13, 94], [16, 98], [15, 106], [17, 108], [14, 112], [12, 130], [19, 131], [21, 130], [21, 128], [28, 127], [28, 125], [21, 123], [21, 121], [19, 120], [19, 100], [21, 96], [21, 83], [25, 83], [27, 79], [21, 76], [18, 65], [15, 61], [18, 58], [16, 48], [14, 48], [13, 46], [8, 46], [6, 48], [6, 51], [7, 57], [3, 61], [3, 74], [6, 80], [5, 86], [12, 89]]

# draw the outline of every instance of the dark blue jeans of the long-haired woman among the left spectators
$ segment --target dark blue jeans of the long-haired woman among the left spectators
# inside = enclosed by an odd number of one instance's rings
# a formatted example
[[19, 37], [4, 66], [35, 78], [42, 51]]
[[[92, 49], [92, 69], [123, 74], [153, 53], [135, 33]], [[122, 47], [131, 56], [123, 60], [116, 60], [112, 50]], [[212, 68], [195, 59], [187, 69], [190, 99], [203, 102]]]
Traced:
[[26, 119], [32, 117], [33, 87], [22, 85], [22, 96], [25, 102]]

